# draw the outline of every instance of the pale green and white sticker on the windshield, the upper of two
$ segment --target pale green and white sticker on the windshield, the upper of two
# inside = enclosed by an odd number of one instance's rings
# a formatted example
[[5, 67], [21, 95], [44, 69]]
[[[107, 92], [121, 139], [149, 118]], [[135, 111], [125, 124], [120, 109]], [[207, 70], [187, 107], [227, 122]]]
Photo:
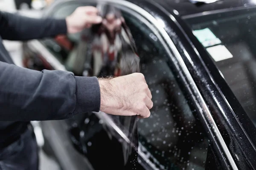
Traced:
[[204, 47], [221, 44], [221, 40], [209, 28], [195, 30], [193, 33]]

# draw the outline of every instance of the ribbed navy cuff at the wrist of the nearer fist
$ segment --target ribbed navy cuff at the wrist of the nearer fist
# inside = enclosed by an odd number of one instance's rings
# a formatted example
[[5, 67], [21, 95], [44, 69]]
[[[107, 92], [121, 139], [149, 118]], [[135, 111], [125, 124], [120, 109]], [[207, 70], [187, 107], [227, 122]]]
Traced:
[[97, 77], [77, 77], [75, 113], [99, 112], [100, 88]]

